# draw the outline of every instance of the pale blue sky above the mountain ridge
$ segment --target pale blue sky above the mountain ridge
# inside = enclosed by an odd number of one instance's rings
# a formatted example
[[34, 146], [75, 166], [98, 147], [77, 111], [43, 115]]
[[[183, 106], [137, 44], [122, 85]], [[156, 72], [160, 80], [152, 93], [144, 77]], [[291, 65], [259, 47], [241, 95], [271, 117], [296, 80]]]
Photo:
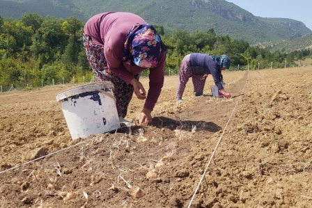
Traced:
[[312, 30], [311, 0], [226, 0], [257, 17], [282, 17], [303, 22]]

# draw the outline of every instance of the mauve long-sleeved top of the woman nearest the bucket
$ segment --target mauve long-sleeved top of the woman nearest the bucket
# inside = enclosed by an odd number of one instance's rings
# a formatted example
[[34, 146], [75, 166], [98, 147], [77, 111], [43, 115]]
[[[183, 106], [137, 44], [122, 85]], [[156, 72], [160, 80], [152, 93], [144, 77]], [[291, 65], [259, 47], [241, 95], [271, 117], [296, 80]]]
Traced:
[[[132, 13], [102, 13], [91, 17], [84, 26], [84, 33], [91, 35], [93, 44], [104, 47], [109, 70], [123, 79], [127, 84], [144, 68], [128, 65], [123, 61], [123, 49], [127, 31], [134, 24], [147, 24], [144, 19]], [[157, 67], [150, 69], [148, 96], [144, 108], [153, 111], [157, 99], [164, 85], [164, 65], [166, 53], [162, 52]]]

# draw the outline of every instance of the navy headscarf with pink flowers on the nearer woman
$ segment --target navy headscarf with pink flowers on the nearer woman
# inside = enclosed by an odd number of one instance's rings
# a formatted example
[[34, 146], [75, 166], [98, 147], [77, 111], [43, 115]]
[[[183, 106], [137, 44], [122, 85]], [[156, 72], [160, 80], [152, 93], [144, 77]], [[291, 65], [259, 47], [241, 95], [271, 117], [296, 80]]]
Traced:
[[143, 68], [153, 68], [157, 66], [161, 52], [160, 36], [153, 26], [135, 24], [127, 32], [123, 50], [125, 63]]

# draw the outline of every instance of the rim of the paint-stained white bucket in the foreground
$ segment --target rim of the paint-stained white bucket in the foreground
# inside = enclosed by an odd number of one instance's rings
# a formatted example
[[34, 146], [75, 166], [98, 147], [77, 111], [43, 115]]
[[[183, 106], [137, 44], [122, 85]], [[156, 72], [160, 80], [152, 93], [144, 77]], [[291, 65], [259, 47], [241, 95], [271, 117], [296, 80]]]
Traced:
[[63, 90], [61, 93], [56, 95], [56, 101], [60, 102], [61, 100], [66, 99], [68, 97], [79, 95], [81, 93], [88, 93], [88, 92], [94, 92], [94, 91], [97, 91], [100, 93], [109, 93], [109, 92], [106, 92], [107, 89], [109, 89], [109, 91], [114, 90], [114, 84], [111, 83], [111, 81], [87, 83], [81, 86], [70, 88], [68, 90]]

